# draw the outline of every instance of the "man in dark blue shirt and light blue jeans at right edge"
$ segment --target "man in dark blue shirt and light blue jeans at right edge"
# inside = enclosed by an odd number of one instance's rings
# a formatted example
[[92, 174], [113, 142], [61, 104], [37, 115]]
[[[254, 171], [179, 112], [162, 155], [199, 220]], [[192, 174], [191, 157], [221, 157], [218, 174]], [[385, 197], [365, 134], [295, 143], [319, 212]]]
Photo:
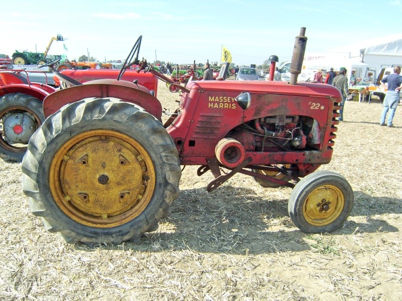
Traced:
[[388, 115], [388, 127], [393, 127], [392, 119], [395, 115], [396, 106], [399, 102], [399, 91], [402, 89], [402, 76], [400, 74], [400, 67], [395, 66], [393, 68], [393, 74], [381, 79], [381, 86], [385, 88], [385, 83], [388, 83], [388, 91], [386, 92], [384, 101], [382, 103], [384, 109], [381, 113], [380, 125], [385, 125], [385, 116], [389, 110]]

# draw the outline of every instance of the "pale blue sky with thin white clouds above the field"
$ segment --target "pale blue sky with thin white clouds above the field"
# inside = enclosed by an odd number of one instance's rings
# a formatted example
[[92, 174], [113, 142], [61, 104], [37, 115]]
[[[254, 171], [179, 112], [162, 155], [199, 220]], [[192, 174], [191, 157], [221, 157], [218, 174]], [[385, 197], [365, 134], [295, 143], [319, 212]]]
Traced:
[[[99, 61], [125, 59], [142, 35], [140, 56], [151, 62], [220, 61], [223, 45], [233, 63], [259, 65], [271, 55], [290, 60], [300, 27], [307, 28], [309, 52], [402, 33], [401, 0], [0, 0], [0, 7], [0, 53], [10, 56], [16, 49], [44, 52], [61, 34], [69, 59], [87, 49]], [[54, 42], [49, 53], [63, 52], [63, 42]]]

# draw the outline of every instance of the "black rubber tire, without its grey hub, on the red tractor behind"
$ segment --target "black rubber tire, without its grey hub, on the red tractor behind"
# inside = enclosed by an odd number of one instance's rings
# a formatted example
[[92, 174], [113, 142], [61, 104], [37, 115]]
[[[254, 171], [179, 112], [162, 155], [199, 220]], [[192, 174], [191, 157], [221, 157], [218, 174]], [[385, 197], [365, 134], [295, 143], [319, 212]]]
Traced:
[[[2, 117], [7, 112], [29, 112], [36, 120], [36, 128], [38, 128], [45, 120], [42, 109], [42, 101], [24, 93], [10, 93], [0, 98], [0, 122], [3, 125]], [[4, 130], [4, 129], [3, 129]], [[3, 136], [0, 135], [0, 158], [6, 162], [21, 162], [27, 146], [14, 146], [9, 143]]]

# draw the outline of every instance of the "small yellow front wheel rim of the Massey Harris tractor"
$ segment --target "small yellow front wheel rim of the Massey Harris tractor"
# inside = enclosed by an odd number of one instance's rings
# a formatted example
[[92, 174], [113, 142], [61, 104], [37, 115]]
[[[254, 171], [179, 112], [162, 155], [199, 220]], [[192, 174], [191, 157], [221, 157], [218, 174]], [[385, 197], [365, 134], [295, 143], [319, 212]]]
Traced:
[[303, 215], [313, 226], [326, 226], [340, 216], [344, 207], [342, 191], [333, 185], [323, 185], [309, 194], [303, 206]]

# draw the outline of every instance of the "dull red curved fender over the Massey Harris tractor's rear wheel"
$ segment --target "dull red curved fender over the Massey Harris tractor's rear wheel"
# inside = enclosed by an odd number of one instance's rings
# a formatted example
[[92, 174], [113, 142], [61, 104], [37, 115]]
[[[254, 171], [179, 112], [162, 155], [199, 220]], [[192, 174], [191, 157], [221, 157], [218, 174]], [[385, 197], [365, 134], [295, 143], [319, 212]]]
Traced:
[[87, 82], [80, 86], [56, 91], [45, 98], [43, 101], [43, 112], [45, 117], [57, 112], [62, 106], [88, 97], [115, 97], [122, 101], [135, 103], [145, 111], [161, 120], [162, 106], [159, 100], [151, 95], [148, 89], [137, 85], [121, 81], [102, 80]]

